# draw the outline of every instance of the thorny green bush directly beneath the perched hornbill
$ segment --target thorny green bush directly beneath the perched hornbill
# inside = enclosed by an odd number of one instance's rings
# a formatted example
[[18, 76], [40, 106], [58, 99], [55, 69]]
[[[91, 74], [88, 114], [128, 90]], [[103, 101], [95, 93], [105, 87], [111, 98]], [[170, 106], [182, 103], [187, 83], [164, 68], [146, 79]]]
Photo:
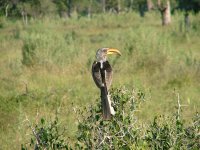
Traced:
[[[101, 117], [101, 107], [91, 107], [89, 115], [78, 125], [79, 149], [130, 149], [139, 144], [140, 129], [136, 127], [135, 111], [143, 101], [143, 93], [131, 92], [125, 88], [111, 92], [115, 116], [111, 121]], [[80, 112], [79, 115], [81, 115]], [[81, 117], [79, 117], [81, 118]]]

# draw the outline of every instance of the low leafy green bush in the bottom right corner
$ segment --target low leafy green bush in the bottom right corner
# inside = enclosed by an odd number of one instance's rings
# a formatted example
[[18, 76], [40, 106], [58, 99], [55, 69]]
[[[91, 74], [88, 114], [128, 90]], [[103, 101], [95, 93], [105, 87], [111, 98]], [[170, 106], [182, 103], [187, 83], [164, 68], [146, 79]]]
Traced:
[[145, 140], [151, 149], [199, 149], [199, 121], [198, 113], [189, 126], [177, 117], [155, 117], [147, 129]]

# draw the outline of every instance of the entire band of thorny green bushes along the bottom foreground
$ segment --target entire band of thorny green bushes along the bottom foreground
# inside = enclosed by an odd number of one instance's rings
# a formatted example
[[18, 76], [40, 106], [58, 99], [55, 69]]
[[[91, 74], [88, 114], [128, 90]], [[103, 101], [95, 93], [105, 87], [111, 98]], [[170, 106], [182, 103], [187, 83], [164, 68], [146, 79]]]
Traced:
[[[101, 116], [100, 103], [80, 109], [73, 106], [78, 131], [74, 144], [66, 144], [66, 137], [60, 134], [58, 118], [50, 124], [37, 124], [33, 130], [30, 146], [38, 149], [199, 149], [200, 117], [186, 125], [180, 113], [172, 116], [156, 116], [150, 124], [140, 125], [135, 112], [143, 103], [145, 94], [126, 88], [111, 91], [116, 114], [110, 121]], [[180, 109], [180, 108], [178, 108]], [[65, 140], [64, 140], [65, 139]], [[69, 139], [68, 139], [69, 140]], [[22, 146], [22, 149], [26, 149]]]

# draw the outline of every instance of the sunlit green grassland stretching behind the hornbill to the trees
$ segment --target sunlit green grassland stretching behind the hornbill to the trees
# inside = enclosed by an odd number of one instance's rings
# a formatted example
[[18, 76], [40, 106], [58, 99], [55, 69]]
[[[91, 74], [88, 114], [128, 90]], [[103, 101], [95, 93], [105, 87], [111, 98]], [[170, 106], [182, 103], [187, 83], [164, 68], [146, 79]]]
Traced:
[[[0, 149], [19, 149], [29, 140], [39, 118], [58, 114], [73, 137], [77, 122], [72, 109], [97, 103], [99, 91], [91, 64], [100, 47], [114, 47], [122, 57], [109, 57], [113, 87], [145, 93], [138, 111], [141, 122], [172, 114], [180, 94], [186, 121], [200, 108], [200, 17], [191, 15], [186, 32], [183, 15], [162, 27], [157, 13], [61, 19], [47, 17], [0, 22]], [[98, 101], [99, 102], [99, 101]]]

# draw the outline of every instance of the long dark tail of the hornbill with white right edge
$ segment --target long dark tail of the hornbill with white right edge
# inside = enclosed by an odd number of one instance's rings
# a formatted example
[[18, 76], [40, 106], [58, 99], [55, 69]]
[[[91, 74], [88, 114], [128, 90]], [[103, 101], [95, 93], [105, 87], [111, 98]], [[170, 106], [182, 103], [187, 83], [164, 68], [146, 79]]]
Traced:
[[110, 120], [111, 115], [114, 115], [115, 112], [111, 106], [110, 96], [108, 95], [106, 87], [101, 87], [101, 104], [103, 110], [103, 118], [105, 120]]

